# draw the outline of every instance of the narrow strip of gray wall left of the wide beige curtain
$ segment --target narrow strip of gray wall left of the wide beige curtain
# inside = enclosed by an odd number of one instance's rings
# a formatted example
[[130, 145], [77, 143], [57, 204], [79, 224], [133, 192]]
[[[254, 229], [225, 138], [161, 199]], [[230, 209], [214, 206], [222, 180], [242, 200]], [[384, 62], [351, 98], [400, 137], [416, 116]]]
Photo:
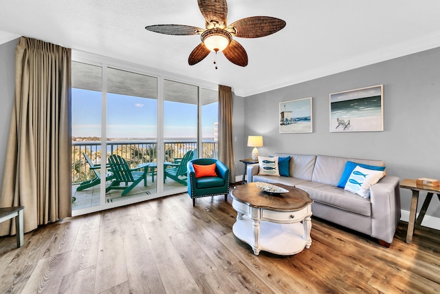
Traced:
[[0, 189], [15, 91], [15, 47], [19, 39], [0, 45]]

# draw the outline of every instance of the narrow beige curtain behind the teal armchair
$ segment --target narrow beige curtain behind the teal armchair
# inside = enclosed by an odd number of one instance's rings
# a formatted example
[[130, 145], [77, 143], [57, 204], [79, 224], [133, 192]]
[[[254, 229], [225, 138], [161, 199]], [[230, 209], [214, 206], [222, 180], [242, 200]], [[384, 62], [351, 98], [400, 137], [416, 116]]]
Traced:
[[232, 140], [232, 90], [219, 85], [219, 160], [231, 170], [235, 182], [235, 156]]

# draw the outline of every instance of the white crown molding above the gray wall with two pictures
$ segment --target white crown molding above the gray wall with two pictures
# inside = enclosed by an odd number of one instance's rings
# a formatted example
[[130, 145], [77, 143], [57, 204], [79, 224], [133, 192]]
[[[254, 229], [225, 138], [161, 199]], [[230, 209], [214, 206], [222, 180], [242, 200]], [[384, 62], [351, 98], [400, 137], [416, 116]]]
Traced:
[[255, 85], [254, 87], [248, 87], [248, 89], [236, 87], [235, 94], [242, 97], [252, 96], [438, 47], [440, 47], [440, 31], [428, 34], [421, 38], [412, 39], [408, 42], [398, 43], [393, 46], [380, 48], [367, 54], [361, 54], [350, 59], [338, 61], [337, 63], [319, 67], [300, 75], [286, 76], [281, 80], [271, 83]]

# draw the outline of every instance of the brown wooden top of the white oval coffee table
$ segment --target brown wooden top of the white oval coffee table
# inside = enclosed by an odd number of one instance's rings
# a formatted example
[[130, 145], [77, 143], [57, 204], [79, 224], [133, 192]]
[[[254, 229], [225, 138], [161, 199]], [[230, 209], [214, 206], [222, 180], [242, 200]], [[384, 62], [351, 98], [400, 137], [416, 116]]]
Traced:
[[231, 191], [231, 196], [235, 200], [245, 202], [251, 207], [267, 208], [276, 211], [296, 211], [313, 203], [309, 194], [303, 190], [281, 184], [276, 184], [276, 186], [289, 190], [289, 192], [276, 196], [271, 195], [261, 191], [254, 182], [250, 182], [248, 185], [236, 186]]

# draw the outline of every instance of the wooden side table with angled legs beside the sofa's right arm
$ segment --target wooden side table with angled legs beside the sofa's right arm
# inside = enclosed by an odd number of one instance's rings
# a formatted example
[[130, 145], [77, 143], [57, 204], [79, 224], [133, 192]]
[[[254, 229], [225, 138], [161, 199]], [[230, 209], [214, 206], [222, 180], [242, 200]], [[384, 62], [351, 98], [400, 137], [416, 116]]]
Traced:
[[[400, 187], [404, 189], [410, 189], [412, 191], [410, 220], [408, 222], [408, 231], [406, 232], [406, 243], [411, 244], [412, 234], [414, 233], [415, 226], [421, 225], [421, 221], [425, 216], [426, 209], [428, 209], [428, 206], [432, 200], [432, 196], [434, 195], [434, 193], [437, 194], [437, 197], [440, 200], [440, 187], [417, 185], [415, 180], [409, 178], [402, 180], [400, 183]], [[426, 192], [428, 194], [426, 195], [426, 199], [423, 202], [423, 205], [421, 206], [419, 216], [417, 217], [416, 220], [415, 215], [417, 213], [417, 204], [419, 202], [419, 192]]]

